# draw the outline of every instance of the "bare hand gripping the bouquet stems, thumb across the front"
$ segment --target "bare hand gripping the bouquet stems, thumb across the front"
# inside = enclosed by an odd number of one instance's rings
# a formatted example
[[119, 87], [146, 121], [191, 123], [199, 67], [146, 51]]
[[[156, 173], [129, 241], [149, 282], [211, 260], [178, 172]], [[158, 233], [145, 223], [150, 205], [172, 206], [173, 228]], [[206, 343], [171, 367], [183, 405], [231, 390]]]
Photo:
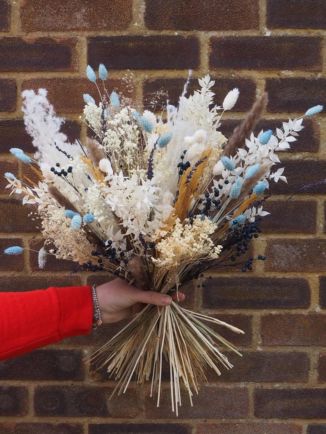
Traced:
[[145, 304], [168, 306], [172, 300], [178, 301], [178, 296], [179, 301], [185, 299], [181, 293], [170, 297], [155, 291], [142, 291], [119, 278], [97, 286], [96, 295], [103, 324], [117, 322], [138, 313]]

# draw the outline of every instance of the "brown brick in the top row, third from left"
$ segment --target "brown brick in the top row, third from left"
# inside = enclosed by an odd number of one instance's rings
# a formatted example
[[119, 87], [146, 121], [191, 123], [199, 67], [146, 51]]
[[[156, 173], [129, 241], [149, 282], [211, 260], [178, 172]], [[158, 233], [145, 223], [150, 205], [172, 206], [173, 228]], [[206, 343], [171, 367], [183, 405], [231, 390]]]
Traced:
[[[151, 30], [257, 29], [258, 1], [146, 0], [145, 24]], [[212, 13], [212, 11], [214, 11]]]

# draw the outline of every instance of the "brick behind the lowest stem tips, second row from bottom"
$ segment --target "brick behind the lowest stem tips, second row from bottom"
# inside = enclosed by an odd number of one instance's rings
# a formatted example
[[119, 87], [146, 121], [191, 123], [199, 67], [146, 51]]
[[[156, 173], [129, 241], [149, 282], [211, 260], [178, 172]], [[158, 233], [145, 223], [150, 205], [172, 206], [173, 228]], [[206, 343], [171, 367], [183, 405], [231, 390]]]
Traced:
[[[178, 407], [179, 418], [246, 418], [249, 415], [249, 394], [243, 387], [203, 387], [198, 395], [192, 397], [181, 393], [181, 407]], [[163, 388], [160, 407], [156, 407], [157, 396], [150, 397], [150, 389], [144, 392], [144, 416], [146, 419], [175, 418], [172, 412], [170, 388]], [[232, 403], [230, 405], [230, 403]]]

